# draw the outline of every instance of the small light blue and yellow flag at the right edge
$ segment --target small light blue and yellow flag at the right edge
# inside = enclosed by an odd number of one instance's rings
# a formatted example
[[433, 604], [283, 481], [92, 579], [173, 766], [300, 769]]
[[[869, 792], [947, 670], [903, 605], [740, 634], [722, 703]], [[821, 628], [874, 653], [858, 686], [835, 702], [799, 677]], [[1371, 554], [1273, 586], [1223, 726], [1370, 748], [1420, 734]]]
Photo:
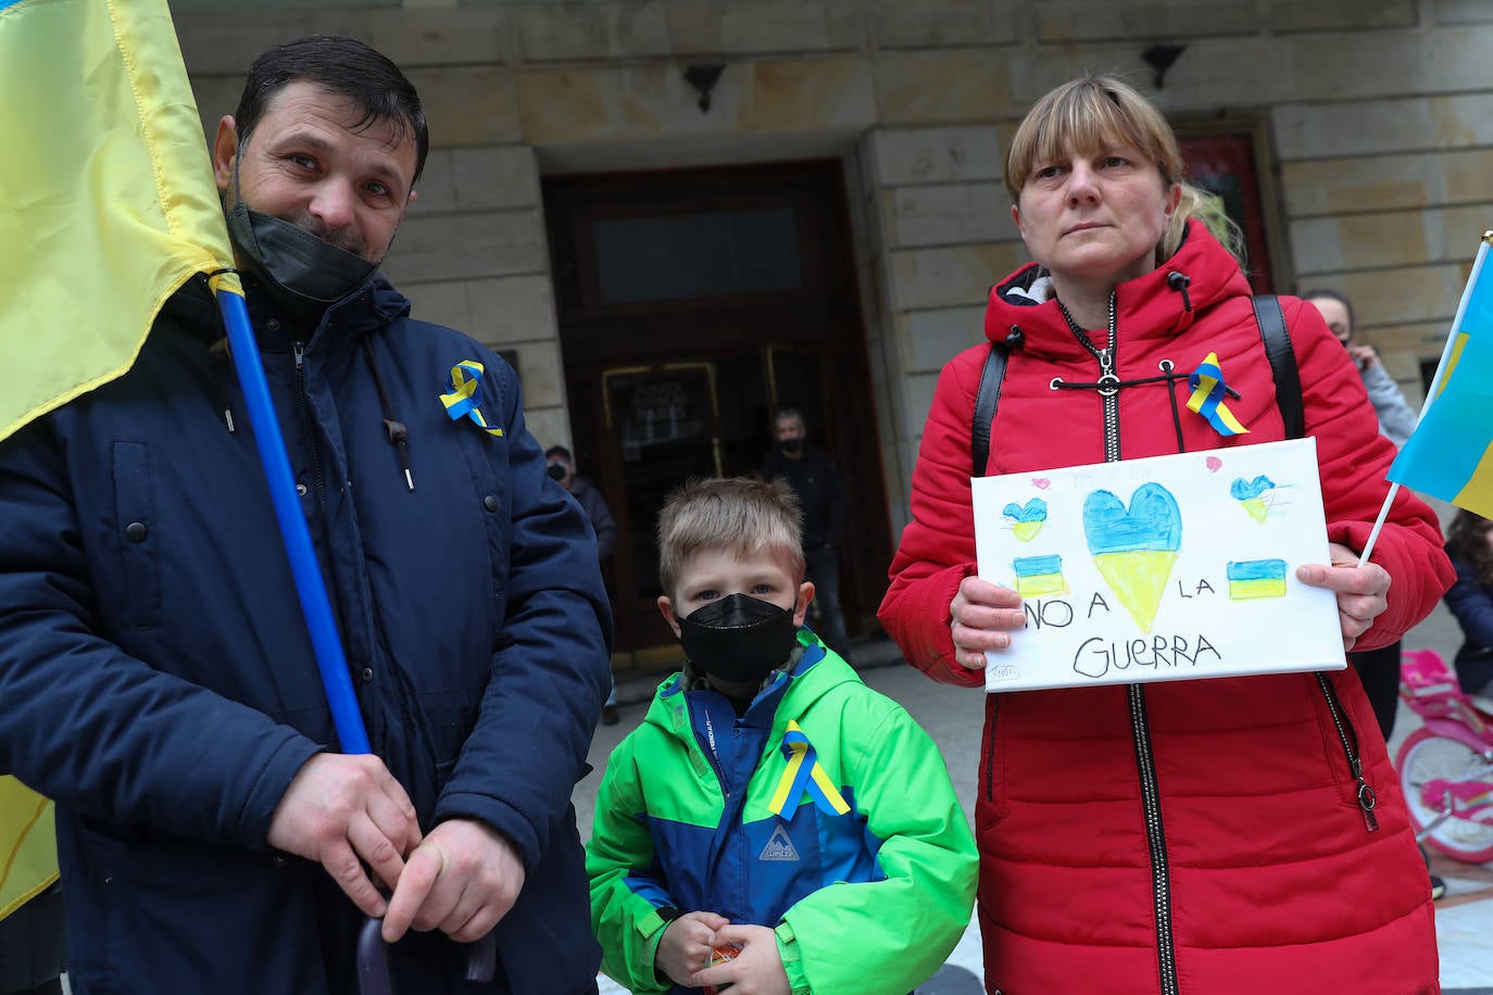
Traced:
[[[1442, 354], [1430, 403], [1388, 479], [1493, 518], [1493, 267], [1484, 236]], [[1439, 385], [1439, 388], [1438, 388]]]

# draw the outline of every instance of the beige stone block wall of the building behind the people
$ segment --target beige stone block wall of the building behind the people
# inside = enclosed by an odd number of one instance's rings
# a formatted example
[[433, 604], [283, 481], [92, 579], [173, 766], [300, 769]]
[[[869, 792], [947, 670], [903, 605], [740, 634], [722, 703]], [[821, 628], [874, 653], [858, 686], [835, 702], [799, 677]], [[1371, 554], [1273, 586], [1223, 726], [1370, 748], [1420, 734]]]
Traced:
[[[411, 73], [436, 151], [388, 270], [417, 315], [518, 351], [567, 439], [539, 175], [838, 157], [847, 170], [893, 509], [942, 362], [1024, 260], [1000, 185], [1023, 110], [1085, 70], [1173, 119], [1263, 121], [1282, 289], [1345, 291], [1406, 394], [1493, 219], [1484, 0], [179, 0], [205, 121], [249, 60], [309, 31]], [[1154, 87], [1141, 52], [1185, 45]], [[708, 113], [681, 70], [724, 63]]]

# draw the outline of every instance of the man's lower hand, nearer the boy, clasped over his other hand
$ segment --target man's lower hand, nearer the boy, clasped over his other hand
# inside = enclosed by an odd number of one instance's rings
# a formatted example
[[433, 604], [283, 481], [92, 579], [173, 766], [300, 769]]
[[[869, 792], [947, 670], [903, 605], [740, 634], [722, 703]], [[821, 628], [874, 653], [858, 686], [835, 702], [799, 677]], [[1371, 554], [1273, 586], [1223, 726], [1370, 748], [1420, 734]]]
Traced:
[[457, 943], [481, 940], [524, 889], [524, 864], [497, 829], [475, 819], [442, 822], [421, 843], [394, 886], [384, 940], [414, 926], [439, 929]]

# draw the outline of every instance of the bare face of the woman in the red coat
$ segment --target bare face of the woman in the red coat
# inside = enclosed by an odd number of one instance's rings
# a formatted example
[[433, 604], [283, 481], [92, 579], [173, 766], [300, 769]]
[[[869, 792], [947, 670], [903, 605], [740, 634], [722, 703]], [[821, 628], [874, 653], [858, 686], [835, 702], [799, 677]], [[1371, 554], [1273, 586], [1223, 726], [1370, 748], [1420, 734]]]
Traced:
[[1181, 192], [1138, 149], [1111, 142], [1079, 154], [1069, 143], [1056, 161], [1036, 164], [1011, 216], [1059, 295], [1065, 282], [1109, 289], [1156, 269]]

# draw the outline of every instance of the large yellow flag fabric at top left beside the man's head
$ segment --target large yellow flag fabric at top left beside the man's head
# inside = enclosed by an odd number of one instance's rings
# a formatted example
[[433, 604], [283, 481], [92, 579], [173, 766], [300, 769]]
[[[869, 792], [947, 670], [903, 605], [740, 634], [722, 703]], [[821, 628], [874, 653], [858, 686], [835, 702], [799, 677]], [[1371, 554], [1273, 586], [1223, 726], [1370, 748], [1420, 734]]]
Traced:
[[166, 0], [0, 0], [0, 440], [231, 266]]

